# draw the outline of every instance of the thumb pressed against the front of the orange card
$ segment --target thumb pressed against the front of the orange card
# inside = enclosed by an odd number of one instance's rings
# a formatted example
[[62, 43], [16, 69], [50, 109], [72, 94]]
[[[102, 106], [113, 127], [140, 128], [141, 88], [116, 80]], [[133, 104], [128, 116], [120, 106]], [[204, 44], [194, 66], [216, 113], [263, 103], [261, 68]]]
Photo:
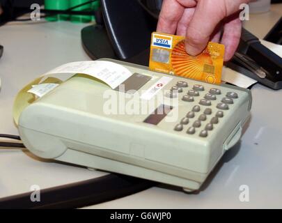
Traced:
[[228, 15], [239, 10], [246, 0], [198, 0], [194, 16], [187, 29], [185, 48], [196, 56], [207, 46], [215, 27]]

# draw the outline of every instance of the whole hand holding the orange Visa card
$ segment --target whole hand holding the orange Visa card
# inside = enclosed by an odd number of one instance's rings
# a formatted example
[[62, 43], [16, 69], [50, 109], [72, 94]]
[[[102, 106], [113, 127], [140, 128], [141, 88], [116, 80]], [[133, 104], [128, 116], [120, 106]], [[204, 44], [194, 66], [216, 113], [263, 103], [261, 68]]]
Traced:
[[157, 31], [185, 36], [188, 54], [196, 56], [209, 41], [225, 45], [224, 61], [235, 53], [242, 31], [240, 4], [250, 0], [164, 0]]

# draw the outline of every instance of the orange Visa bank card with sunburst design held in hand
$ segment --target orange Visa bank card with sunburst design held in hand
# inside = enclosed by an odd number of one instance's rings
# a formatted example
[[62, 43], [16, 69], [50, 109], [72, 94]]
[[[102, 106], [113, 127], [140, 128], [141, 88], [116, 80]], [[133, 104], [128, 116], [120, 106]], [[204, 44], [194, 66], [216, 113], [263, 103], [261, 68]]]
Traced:
[[210, 42], [201, 54], [190, 56], [184, 41], [184, 36], [152, 33], [150, 70], [220, 84], [224, 45]]

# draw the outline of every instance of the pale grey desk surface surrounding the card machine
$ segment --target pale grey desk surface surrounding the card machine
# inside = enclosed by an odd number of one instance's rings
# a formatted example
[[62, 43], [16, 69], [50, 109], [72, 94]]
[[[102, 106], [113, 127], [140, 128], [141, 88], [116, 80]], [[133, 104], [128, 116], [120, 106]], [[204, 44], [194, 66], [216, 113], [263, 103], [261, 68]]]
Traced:
[[[272, 6], [271, 13], [252, 15], [245, 26], [263, 38], [281, 12], [281, 4]], [[254, 28], [256, 20], [260, 20], [259, 29]], [[24, 84], [63, 63], [89, 60], [80, 43], [83, 26], [56, 22], [0, 27], [0, 41], [5, 47], [0, 60], [0, 133], [17, 134], [11, 111], [13, 98]], [[260, 84], [251, 91], [249, 128], [241, 143], [224, 155], [199, 194], [185, 194], [166, 186], [152, 187], [88, 208], [282, 208], [282, 91], [272, 91]], [[46, 188], [103, 174], [44, 162], [27, 151], [0, 150], [0, 197], [28, 192], [31, 185]], [[249, 187], [249, 202], [240, 201], [240, 185]]]

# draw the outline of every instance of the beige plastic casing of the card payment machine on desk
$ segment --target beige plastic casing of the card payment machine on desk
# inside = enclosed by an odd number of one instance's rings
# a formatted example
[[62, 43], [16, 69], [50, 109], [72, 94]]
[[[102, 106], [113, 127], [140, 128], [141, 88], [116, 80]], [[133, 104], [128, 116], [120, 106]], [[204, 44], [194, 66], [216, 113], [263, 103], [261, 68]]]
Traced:
[[[178, 100], [178, 109], [174, 107], [170, 114], [178, 112], [178, 120], [166, 122], [164, 119], [152, 125], [143, 122], [149, 114], [105, 114], [104, 103], [109, 98], [104, 98], [103, 94], [114, 90], [93, 78], [77, 75], [26, 107], [19, 116], [19, 134], [26, 148], [39, 157], [155, 180], [183, 187], [186, 191], [198, 190], [224, 152], [240, 140], [251, 108], [250, 92], [224, 84], [219, 86], [164, 75], [131, 63], [103, 60], [151, 76], [152, 79], [136, 92], [139, 94], [164, 76], [173, 78], [164, 91], [178, 81], [187, 82], [189, 86], [173, 99]], [[203, 85], [205, 91], [200, 92], [194, 102], [183, 101], [182, 96], [194, 84]], [[201, 122], [201, 128], [195, 134], [187, 134], [187, 128], [203, 114], [206, 108], [203, 105], [184, 130], [175, 131], [175, 125], [212, 88], [220, 89], [221, 95], [212, 101], [209, 106], [212, 114]], [[238, 98], [224, 111], [224, 117], [219, 118], [208, 136], [200, 137], [199, 132], [219, 111], [217, 104], [230, 91], [237, 93]], [[171, 101], [168, 99], [166, 104]], [[138, 102], [142, 106], [146, 101], [139, 99]]]

